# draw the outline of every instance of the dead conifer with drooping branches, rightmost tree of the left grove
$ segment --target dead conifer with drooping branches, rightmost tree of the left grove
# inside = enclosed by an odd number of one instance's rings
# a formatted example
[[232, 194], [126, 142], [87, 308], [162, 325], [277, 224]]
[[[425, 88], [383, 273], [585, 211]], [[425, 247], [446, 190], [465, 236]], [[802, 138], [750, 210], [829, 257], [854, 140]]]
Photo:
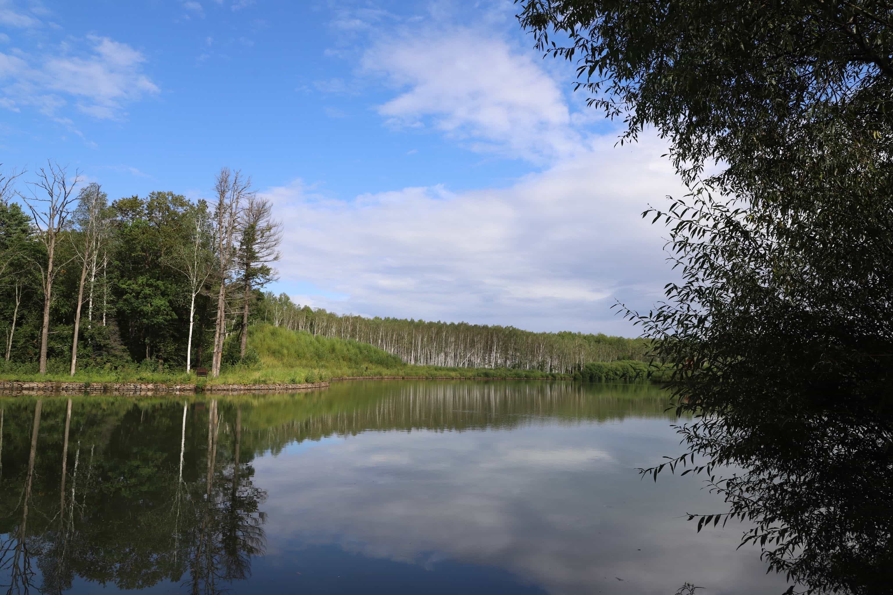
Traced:
[[270, 263], [280, 259], [282, 224], [272, 218], [269, 200], [256, 194], [248, 197], [240, 221], [242, 231], [238, 248], [238, 266], [242, 273], [242, 330], [239, 358], [245, 357], [248, 339], [248, 306], [251, 290], [276, 280]]

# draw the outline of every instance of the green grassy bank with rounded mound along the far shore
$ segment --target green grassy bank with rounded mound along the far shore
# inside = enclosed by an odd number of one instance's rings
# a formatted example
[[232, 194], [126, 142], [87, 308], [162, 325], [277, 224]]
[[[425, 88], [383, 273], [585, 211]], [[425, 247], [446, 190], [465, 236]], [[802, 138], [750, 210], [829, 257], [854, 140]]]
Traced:
[[[321, 382], [339, 376], [422, 376], [565, 379], [584, 381], [647, 381], [647, 364], [638, 361], [587, 364], [574, 376], [538, 370], [505, 368], [440, 368], [410, 366], [395, 355], [367, 343], [313, 336], [270, 325], [249, 327], [248, 353], [238, 359], [238, 337], [228, 342], [219, 378], [208, 384], [275, 384]], [[160, 367], [147, 361], [112, 368], [80, 368], [68, 374], [68, 361], [50, 361], [46, 376], [38, 374], [37, 363], [0, 362], [0, 380], [89, 382], [89, 383], [195, 383], [195, 372]], [[205, 382], [204, 378], [201, 382]]]

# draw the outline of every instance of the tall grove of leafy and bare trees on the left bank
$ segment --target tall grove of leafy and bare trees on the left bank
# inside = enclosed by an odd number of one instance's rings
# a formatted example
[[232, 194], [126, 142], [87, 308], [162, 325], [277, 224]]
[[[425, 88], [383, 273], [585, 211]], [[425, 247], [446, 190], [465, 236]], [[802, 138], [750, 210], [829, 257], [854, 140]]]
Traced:
[[[246, 358], [281, 226], [251, 179], [222, 168], [213, 198], [152, 192], [109, 202], [54, 161], [0, 173], [4, 365], [117, 368]], [[24, 184], [17, 184], [24, 181]], [[228, 338], [230, 341], [228, 342]], [[238, 343], [235, 339], [238, 338]], [[195, 356], [195, 359], [194, 359]], [[60, 371], [60, 370], [56, 370]]]

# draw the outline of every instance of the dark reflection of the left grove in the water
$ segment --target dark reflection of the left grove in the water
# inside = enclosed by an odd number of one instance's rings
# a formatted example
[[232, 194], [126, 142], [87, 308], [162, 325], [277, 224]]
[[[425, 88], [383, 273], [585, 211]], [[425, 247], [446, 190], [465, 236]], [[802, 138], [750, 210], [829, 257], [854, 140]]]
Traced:
[[266, 494], [253, 483], [255, 449], [242, 442], [238, 404], [225, 416], [218, 401], [46, 399], [3, 409], [0, 592], [62, 593], [79, 576], [219, 593], [251, 575], [251, 558], [264, 552]]

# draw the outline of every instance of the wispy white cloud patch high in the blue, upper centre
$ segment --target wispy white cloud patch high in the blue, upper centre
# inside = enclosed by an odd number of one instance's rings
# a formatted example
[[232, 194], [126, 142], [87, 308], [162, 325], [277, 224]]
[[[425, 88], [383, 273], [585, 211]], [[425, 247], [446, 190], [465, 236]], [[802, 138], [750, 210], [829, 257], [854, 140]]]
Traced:
[[470, 29], [415, 30], [364, 54], [401, 92], [379, 106], [398, 126], [431, 126], [468, 148], [533, 161], [571, 157], [582, 142], [555, 80], [531, 54]]

